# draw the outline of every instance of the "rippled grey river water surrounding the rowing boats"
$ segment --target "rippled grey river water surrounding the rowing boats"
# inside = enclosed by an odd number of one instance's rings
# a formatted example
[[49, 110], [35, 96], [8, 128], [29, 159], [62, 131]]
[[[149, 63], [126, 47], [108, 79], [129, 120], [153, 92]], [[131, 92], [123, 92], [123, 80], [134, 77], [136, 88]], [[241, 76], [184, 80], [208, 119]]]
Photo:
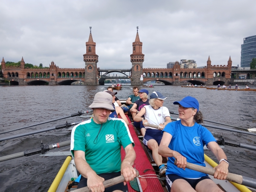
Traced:
[[[103, 87], [108, 86], [2, 86], [0, 87], [0, 132], [57, 119], [78, 111], [89, 110], [88, 106], [92, 103], [95, 93], [102, 91]], [[131, 85], [125, 85], [125, 87], [131, 87]], [[249, 125], [256, 127], [256, 92], [207, 90], [171, 85], [155, 86], [154, 88], [148, 88], [148, 90], [149, 93], [158, 90], [164, 96], [167, 96], [168, 99], [165, 100], [164, 106], [175, 113], [177, 113], [177, 105], [172, 104], [174, 101], [178, 101], [185, 96], [193, 96], [200, 103], [200, 111], [203, 113], [204, 119], [246, 128], [249, 128]], [[128, 95], [132, 94], [132, 89], [123, 88], [117, 90], [117, 92], [116, 96], [119, 99], [127, 99]], [[176, 115], [172, 115], [172, 117], [177, 118]], [[66, 120], [68, 122], [78, 122], [82, 118], [62, 119], [2, 134], [0, 138], [55, 127], [56, 125], [65, 124]], [[211, 123], [205, 122], [205, 124]], [[226, 140], [256, 145], [256, 136], [214, 128], [209, 128], [209, 130], [215, 137], [222, 133]], [[0, 142], [0, 157], [40, 147], [41, 140], [44, 144], [70, 140], [70, 131], [64, 129], [48, 131]], [[64, 148], [67, 147], [61, 149]], [[231, 146], [225, 146], [224, 151], [230, 162], [230, 172], [256, 179], [256, 151]], [[210, 151], [205, 151], [205, 153], [216, 161]], [[65, 158], [62, 156], [39, 157], [36, 154], [1, 162], [0, 191], [47, 191]]]

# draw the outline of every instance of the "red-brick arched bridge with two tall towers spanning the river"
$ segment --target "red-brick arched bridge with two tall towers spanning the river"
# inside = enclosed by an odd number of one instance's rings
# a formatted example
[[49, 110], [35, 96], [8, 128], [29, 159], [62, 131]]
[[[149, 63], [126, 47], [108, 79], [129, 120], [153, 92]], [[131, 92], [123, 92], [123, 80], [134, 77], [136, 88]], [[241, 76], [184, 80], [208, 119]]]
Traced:
[[[91, 29], [91, 28], [90, 28]], [[132, 85], [143, 85], [148, 81], [161, 81], [165, 84], [182, 85], [182, 84], [234, 84], [242, 80], [236, 80], [241, 71], [231, 70], [231, 58], [227, 61], [227, 65], [212, 65], [210, 57], [207, 60], [207, 66], [195, 69], [181, 69], [178, 61], [175, 62], [173, 68], [143, 68], [144, 54], [142, 53], [142, 42], [137, 35], [132, 43], [133, 53], [131, 57], [131, 68], [100, 68], [97, 67], [99, 56], [96, 55], [96, 43], [93, 36], [89, 35], [86, 42], [86, 53], [83, 55], [85, 68], [59, 68], [52, 61], [49, 68], [25, 68], [23, 57], [20, 67], [7, 67], [4, 58], [1, 62], [2, 73], [10, 84], [33, 85], [47, 84], [49, 85], [68, 85], [75, 81], [84, 81], [85, 85], [104, 84], [105, 79], [130, 79]], [[123, 76], [108, 76], [109, 73], [122, 73]], [[252, 74], [252, 81], [255, 83], [256, 70], [242, 71], [247, 73], [247, 77]], [[246, 79], [247, 80], [247, 79]], [[246, 84], [248, 80], [244, 83]], [[239, 84], [242, 84], [239, 83]]]

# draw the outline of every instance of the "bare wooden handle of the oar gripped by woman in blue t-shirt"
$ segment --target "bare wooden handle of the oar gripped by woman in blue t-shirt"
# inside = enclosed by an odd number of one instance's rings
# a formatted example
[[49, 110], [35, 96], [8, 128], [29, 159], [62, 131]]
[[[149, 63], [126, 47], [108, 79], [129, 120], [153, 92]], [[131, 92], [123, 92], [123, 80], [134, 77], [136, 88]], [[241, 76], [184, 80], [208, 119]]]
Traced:
[[[177, 163], [177, 160], [175, 159], [174, 164], [176, 165], [176, 163]], [[187, 163], [186, 168], [192, 169], [192, 170], [195, 170], [195, 171], [198, 171], [198, 172], [202, 172], [202, 173], [205, 173], [205, 174], [208, 174], [208, 175], [212, 175], [212, 176], [215, 173], [215, 169], [195, 165], [193, 163]], [[226, 180], [229, 180], [229, 181], [232, 181], [232, 182], [235, 182], [235, 183], [238, 183], [238, 184], [242, 184], [243, 176], [236, 175], [236, 174], [233, 174], [233, 173], [228, 173], [227, 177], [226, 177]]]

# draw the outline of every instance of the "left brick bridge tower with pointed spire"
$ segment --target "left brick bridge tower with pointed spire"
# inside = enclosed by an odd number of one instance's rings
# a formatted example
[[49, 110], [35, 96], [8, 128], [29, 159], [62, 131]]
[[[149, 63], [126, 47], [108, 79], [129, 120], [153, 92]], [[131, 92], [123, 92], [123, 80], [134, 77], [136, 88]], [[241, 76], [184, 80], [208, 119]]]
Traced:
[[89, 40], [86, 42], [86, 53], [84, 54], [85, 62], [85, 74], [84, 74], [84, 84], [86, 85], [97, 85], [98, 84], [98, 55], [96, 55], [96, 43], [93, 42], [93, 36], [91, 33]]

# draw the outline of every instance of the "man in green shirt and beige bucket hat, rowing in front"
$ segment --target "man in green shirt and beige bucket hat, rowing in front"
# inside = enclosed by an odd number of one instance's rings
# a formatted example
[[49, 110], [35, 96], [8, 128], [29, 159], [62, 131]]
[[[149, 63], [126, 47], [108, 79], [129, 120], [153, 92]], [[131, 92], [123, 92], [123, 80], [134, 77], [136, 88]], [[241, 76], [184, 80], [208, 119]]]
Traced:
[[[91, 192], [126, 192], [127, 181], [136, 172], [132, 165], [136, 157], [129, 129], [122, 119], [111, 118], [114, 110], [112, 96], [107, 92], [96, 93], [92, 105], [93, 119], [76, 125], [71, 133], [70, 151], [75, 157], [76, 169], [82, 175], [78, 189], [88, 186]], [[121, 162], [121, 146], [125, 159]], [[104, 188], [103, 181], [123, 175], [125, 182]]]

